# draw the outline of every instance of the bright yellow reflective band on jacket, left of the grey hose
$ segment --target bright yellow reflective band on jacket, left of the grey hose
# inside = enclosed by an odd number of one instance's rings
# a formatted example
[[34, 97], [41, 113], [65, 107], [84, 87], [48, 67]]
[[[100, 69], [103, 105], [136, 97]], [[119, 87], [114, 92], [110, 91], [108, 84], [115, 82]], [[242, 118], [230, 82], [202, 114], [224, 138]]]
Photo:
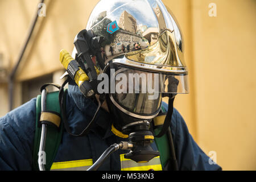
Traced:
[[65, 169], [65, 168], [76, 168], [76, 167], [85, 167], [85, 166], [92, 166], [93, 160], [92, 159], [84, 159], [84, 160], [72, 160], [67, 162], [57, 162], [53, 163], [52, 169]]

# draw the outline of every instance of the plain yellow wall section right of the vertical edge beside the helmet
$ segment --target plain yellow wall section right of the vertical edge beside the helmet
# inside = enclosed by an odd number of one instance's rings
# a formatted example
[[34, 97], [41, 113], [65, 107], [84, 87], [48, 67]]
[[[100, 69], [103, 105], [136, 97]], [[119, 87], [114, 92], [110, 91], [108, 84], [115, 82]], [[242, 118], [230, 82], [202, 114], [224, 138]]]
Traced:
[[256, 169], [256, 1], [192, 1], [197, 141], [224, 169]]

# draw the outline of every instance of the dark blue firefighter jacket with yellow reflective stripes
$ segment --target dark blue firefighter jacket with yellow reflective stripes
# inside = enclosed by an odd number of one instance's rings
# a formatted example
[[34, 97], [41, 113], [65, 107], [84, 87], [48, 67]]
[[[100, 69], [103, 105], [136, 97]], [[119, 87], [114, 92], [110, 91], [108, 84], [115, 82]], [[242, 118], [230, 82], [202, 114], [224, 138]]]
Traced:
[[[78, 86], [74, 85], [69, 85], [66, 103], [69, 126], [73, 133], [79, 134], [92, 119], [97, 105], [85, 98]], [[163, 106], [167, 110], [167, 104], [163, 102]], [[0, 170], [32, 169], [35, 112], [36, 98], [0, 118]], [[64, 131], [63, 140], [52, 169], [86, 169], [100, 157], [110, 144], [123, 140], [112, 133], [109, 118], [109, 113], [101, 109], [96, 117], [96, 125], [85, 137], [72, 137]], [[172, 115], [171, 131], [180, 170], [221, 169], [217, 164], [209, 163], [209, 157], [197, 146], [188, 132], [184, 119], [176, 109]], [[155, 143], [152, 143], [152, 147], [157, 150]], [[115, 151], [99, 170], [148, 169], [143, 168], [143, 165], [147, 164], [138, 166], [138, 163], [134, 164], [135, 162], [124, 159], [123, 153], [125, 151]], [[157, 169], [162, 169], [156, 163], [155, 159], [153, 167], [155, 165]]]

